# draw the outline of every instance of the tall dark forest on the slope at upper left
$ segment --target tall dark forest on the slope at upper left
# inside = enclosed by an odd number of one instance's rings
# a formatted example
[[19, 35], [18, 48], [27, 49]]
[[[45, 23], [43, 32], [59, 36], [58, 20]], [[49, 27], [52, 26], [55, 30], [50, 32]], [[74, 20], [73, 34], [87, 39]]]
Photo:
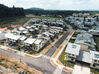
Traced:
[[23, 8], [16, 8], [14, 6], [13, 8], [9, 8], [0, 4], [0, 19], [19, 16], [25, 16]]

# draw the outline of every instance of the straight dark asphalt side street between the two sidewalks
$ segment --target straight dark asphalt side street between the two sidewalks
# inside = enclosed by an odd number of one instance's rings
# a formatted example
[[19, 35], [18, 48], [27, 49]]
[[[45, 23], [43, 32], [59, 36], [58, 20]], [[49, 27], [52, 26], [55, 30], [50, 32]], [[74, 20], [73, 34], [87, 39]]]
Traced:
[[57, 48], [62, 44], [62, 42], [66, 39], [69, 35], [70, 31], [66, 32], [46, 53], [47, 56], [52, 56]]

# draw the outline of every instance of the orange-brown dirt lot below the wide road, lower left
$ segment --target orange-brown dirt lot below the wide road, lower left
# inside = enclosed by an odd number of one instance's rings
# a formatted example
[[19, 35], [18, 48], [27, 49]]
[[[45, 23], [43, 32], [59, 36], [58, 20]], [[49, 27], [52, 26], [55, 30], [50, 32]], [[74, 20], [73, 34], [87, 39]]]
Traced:
[[[42, 74], [34, 68], [28, 67], [25, 63], [20, 62], [12, 57], [0, 53], [0, 65], [5, 67], [7, 72], [19, 73], [20, 71], [27, 72], [28, 74]], [[8, 70], [10, 69], [10, 70]], [[9, 74], [9, 73], [8, 73]]]

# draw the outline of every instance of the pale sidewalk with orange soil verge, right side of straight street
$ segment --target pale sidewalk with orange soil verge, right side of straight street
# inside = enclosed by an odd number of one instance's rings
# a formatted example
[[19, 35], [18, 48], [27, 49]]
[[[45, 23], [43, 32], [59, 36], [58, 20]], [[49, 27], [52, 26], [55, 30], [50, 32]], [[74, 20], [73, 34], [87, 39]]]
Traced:
[[70, 67], [65, 67], [60, 61], [59, 61], [59, 56], [61, 55], [61, 53], [63, 52], [65, 46], [67, 45], [68, 41], [70, 40], [70, 38], [72, 37], [74, 31], [70, 33], [70, 35], [65, 39], [65, 41], [60, 45], [60, 47], [58, 48], [58, 50], [54, 53], [54, 55], [51, 57], [51, 63], [56, 66], [56, 67], [62, 67], [61, 69], [63, 69], [64, 71], [67, 72], [72, 72], [73, 69]]

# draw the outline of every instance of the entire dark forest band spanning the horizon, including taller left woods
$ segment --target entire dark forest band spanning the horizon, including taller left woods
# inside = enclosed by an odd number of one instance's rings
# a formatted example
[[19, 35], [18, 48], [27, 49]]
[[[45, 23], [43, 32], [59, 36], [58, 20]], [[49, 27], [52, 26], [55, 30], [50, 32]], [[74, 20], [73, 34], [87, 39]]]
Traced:
[[[16, 7], [7, 7], [5, 5], [0, 4], [0, 26], [7, 25], [7, 24], [20, 24], [21, 18], [24, 20], [28, 20], [28, 18], [24, 17], [25, 14], [33, 14], [34, 16], [43, 17], [41, 15], [45, 15], [47, 18], [60, 18], [72, 15], [73, 13], [97, 13], [98, 11], [66, 11], [66, 10], [44, 10], [41, 8], [30, 8], [30, 9], [23, 9], [23, 8], [16, 8]], [[44, 17], [45, 17], [44, 16]], [[22, 21], [23, 21], [22, 20]], [[26, 22], [24, 21], [24, 22]], [[24, 24], [22, 22], [21, 24]], [[76, 28], [76, 27], [75, 27]]]

